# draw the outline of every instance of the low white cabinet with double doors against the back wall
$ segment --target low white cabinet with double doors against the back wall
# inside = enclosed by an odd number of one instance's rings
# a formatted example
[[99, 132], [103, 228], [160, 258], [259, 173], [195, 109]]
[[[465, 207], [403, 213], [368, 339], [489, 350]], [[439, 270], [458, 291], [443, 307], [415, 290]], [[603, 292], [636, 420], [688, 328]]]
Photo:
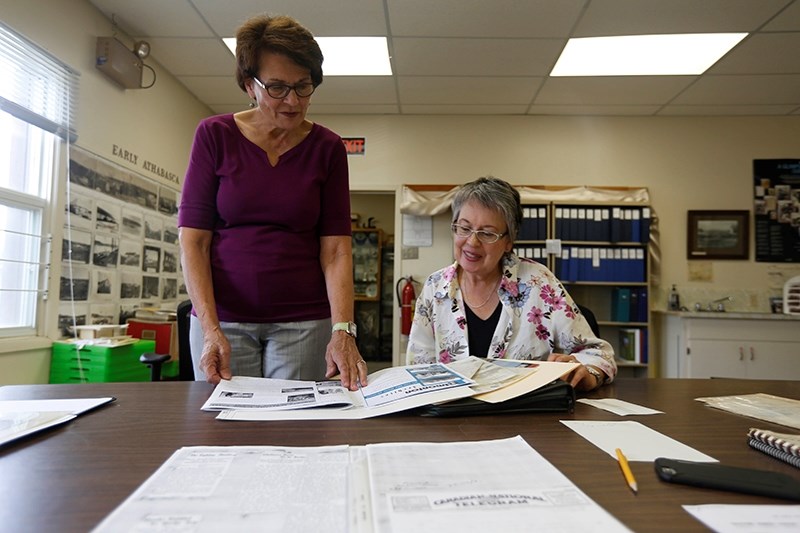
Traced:
[[662, 377], [800, 380], [800, 321], [663, 313]]

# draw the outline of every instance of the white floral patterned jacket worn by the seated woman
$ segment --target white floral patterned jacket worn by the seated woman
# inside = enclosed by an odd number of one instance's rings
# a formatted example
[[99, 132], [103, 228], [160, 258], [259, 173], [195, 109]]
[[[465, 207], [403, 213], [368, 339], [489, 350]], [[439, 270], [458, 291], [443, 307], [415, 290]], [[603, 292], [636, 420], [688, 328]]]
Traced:
[[[454, 263], [425, 280], [411, 325], [406, 353], [409, 364], [449, 363], [470, 355], [457, 268]], [[613, 348], [594, 336], [550, 270], [513, 253], [503, 257], [502, 268], [497, 293], [503, 312], [489, 346], [490, 357], [546, 360], [551, 353], [571, 354], [614, 379]]]

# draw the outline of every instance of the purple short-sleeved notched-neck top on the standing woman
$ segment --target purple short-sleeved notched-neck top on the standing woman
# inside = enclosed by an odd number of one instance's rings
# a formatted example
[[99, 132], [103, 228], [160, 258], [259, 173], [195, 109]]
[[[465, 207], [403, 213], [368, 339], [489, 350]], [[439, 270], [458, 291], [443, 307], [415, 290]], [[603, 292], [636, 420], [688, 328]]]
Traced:
[[272, 166], [233, 115], [200, 122], [178, 225], [211, 230], [219, 319], [292, 322], [331, 316], [320, 237], [351, 235], [342, 139], [314, 124]]

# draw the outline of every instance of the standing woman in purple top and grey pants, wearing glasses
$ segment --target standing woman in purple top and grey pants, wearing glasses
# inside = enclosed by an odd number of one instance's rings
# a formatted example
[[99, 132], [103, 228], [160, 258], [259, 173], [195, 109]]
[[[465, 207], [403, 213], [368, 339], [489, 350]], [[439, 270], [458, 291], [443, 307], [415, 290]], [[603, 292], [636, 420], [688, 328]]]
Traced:
[[236, 32], [250, 109], [197, 128], [178, 215], [198, 379], [367, 379], [353, 323], [347, 155], [306, 119], [322, 52], [289, 17]]

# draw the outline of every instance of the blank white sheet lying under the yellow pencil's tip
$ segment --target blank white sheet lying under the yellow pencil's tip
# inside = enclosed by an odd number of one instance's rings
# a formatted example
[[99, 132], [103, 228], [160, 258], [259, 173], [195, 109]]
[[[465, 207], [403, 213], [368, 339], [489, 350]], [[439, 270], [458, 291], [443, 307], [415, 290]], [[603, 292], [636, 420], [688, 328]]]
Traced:
[[628, 461], [655, 461], [659, 457], [716, 463], [717, 460], [667, 437], [644, 424], [633, 421], [562, 420], [562, 424], [588, 440], [608, 455], [617, 458], [620, 448]]

